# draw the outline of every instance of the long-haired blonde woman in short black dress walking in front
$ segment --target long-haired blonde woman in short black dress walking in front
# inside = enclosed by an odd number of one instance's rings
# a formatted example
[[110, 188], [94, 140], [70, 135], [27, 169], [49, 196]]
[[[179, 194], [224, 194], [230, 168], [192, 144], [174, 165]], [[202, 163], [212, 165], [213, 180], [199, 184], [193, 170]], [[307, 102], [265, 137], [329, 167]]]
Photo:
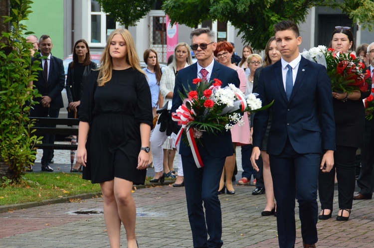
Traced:
[[131, 190], [146, 179], [151, 91], [127, 29], [109, 35], [100, 62], [87, 81], [78, 113], [77, 160], [86, 166], [83, 179], [100, 183], [110, 247], [120, 247], [123, 223], [127, 247], [138, 248]]

